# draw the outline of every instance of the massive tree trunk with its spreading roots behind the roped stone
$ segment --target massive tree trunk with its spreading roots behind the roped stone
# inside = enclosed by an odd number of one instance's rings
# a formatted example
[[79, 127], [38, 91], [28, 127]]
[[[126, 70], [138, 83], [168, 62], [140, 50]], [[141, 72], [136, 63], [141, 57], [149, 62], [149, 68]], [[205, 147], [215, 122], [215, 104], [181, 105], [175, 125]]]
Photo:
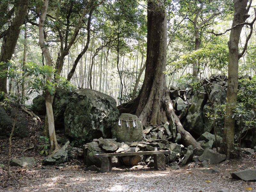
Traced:
[[137, 98], [132, 102], [118, 106], [119, 112], [134, 113], [139, 116], [142, 125], [159, 125], [175, 118], [177, 131], [186, 146], [193, 145], [203, 150], [196, 140], [184, 130], [172, 107], [169, 92], [166, 92], [165, 70], [167, 43], [167, 19], [164, 0], [148, 0], [148, 36], [145, 78]]

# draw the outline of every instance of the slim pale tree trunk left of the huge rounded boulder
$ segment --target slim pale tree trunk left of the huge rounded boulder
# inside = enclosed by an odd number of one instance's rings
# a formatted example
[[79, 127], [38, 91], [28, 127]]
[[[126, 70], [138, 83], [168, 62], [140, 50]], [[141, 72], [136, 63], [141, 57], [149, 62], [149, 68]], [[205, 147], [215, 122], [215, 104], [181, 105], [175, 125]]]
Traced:
[[[52, 58], [51, 54], [49, 52], [49, 49], [47, 45], [44, 42], [44, 21], [46, 18], [46, 13], [48, 9], [48, 4], [49, 0], [44, 0], [44, 6], [42, 8], [42, 13], [39, 17], [39, 23], [38, 23], [38, 28], [39, 28], [39, 46], [44, 53], [45, 57], [45, 63], [49, 67], [52, 67]], [[52, 74], [47, 75], [46, 80], [49, 82], [52, 82]], [[46, 106], [46, 113], [48, 117], [48, 128], [49, 128], [49, 135], [50, 135], [50, 142], [51, 142], [51, 149], [57, 151], [60, 146], [57, 142], [56, 139], [56, 134], [55, 134], [55, 127], [54, 127], [54, 118], [53, 118], [53, 111], [52, 111], [52, 95], [48, 90], [45, 90], [45, 106]]]

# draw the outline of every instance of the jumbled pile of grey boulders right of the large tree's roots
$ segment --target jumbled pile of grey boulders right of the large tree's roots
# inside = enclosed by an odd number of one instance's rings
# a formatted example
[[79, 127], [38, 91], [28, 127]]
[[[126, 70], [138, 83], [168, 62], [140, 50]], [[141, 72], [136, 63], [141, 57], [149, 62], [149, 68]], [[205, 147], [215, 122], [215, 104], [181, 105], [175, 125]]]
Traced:
[[[227, 76], [224, 75], [212, 75], [209, 79], [204, 79], [213, 106], [225, 103], [227, 80]], [[193, 91], [193, 88], [181, 86], [178, 89], [172, 87], [170, 93], [174, 108], [186, 131], [195, 137], [212, 131], [212, 122], [206, 117], [212, 104], [206, 92]], [[214, 107], [214, 112], [216, 111], [217, 108]]]

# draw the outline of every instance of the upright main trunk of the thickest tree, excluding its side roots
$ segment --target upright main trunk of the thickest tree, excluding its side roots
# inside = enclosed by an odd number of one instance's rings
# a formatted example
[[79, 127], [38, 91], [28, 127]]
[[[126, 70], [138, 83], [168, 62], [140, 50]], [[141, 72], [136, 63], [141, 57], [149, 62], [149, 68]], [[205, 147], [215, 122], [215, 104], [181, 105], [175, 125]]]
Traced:
[[[142, 124], [162, 123], [162, 99], [165, 91], [167, 19], [164, 1], [148, 1], [148, 35], [145, 78], [138, 98], [136, 115]], [[154, 109], [154, 110], [152, 110]]]

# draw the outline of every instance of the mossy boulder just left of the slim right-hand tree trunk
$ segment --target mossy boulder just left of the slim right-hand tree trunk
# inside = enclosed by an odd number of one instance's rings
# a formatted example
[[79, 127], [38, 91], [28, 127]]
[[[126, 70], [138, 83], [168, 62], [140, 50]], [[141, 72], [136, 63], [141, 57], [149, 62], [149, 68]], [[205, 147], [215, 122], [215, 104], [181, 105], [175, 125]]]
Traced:
[[[209, 95], [209, 98], [210, 98], [210, 100], [212, 100], [213, 106], [222, 105], [226, 101], [226, 95], [227, 95], [227, 92], [220, 85], [214, 84], [212, 91]], [[209, 108], [208, 108], [208, 106], [209, 106]], [[212, 111], [212, 104], [209, 102], [209, 100], [207, 100], [207, 103], [206, 103], [206, 105], [204, 105], [204, 109], [203, 109], [204, 132], [210, 132], [213, 128], [213, 125], [212, 125], [213, 122], [208, 119], [206, 114], [208, 112], [209, 113], [213, 112], [213, 114], [216, 114], [217, 110], [218, 110], [218, 108], [213, 107], [213, 111]]]

